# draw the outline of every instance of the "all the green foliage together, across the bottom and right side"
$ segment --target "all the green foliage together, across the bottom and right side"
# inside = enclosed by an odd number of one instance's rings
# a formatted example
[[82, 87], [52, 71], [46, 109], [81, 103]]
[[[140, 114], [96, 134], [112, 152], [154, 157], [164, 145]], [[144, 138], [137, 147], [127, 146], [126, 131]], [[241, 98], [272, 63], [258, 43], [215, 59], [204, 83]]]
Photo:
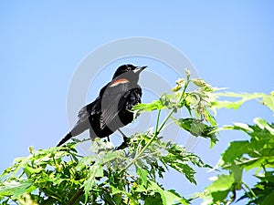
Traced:
[[[189, 85], [195, 90], [188, 91]], [[135, 115], [157, 112], [154, 129], [132, 135], [128, 147], [115, 149], [110, 142], [96, 138], [91, 156], [81, 156], [76, 149], [79, 140], [66, 147], [34, 150], [30, 155], [15, 159], [0, 175], [1, 204], [190, 204], [202, 198], [205, 204], [230, 204], [248, 199], [249, 204], [270, 204], [274, 198], [274, 126], [262, 118], [254, 125], [235, 123], [217, 128], [219, 108], [237, 109], [246, 101], [256, 99], [274, 110], [274, 94], [236, 94], [220, 92], [204, 80], [185, 78], [176, 81], [172, 92], [159, 99], [133, 108]], [[226, 97], [236, 97], [228, 101]], [[162, 110], [169, 110], [163, 117]], [[183, 113], [179, 118], [174, 115]], [[217, 167], [225, 173], [216, 176], [204, 192], [186, 199], [175, 190], [165, 190], [158, 182], [164, 173], [174, 169], [196, 184], [195, 169], [213, 169], [195, 153], [171, 141], [163, 141], [163, 130], [176, 124], [197, 138], [207, 138], [210, 146], [217, 142], [216, 133], [238, 130], [248, 140], [232, 141], [223, 152]], [[243, 180], [244, 171], [258, 169], [258, 183], [253, 187]], [[228, 172], [228, 174], [227, 174]], [[237, 191], [244, 190], [237, 197]]]

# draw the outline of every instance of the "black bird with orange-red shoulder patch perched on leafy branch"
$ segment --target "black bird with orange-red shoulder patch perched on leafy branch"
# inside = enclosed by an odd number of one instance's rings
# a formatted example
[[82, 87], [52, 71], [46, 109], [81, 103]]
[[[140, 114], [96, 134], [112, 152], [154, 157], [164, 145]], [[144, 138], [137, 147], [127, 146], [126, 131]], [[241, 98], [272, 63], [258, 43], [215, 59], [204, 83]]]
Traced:
[[[138, 80], [144, 68], [131, 64], [118, 67], [111, 82], [100, 89], [99, 97], [79, 110], [78, 122], [58, 146], [87, 129], [90, 129], [90, 138], [109, 138], [117, 129], [121, 131], [119, 128], [132, 122], [130, 110], [141, 103], [142, 89]], [[126, 137], [122, 136], [126, 143]]]

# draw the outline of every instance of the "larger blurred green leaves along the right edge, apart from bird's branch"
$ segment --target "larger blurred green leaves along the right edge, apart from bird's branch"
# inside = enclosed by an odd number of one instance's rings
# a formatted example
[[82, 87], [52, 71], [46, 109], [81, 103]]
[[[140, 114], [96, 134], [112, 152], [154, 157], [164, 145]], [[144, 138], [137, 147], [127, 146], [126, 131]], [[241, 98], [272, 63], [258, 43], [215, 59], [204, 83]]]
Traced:
[[[237, 94], [216, 93], [218, 97], [237, 97], [236, 101], [213, 101], [214, 108], [237, 109], [248, 100], [256, 99], [274, 111], [274, 93]], [[262, 118], [254, 118], [254, 125], [234, 123], [213, 130], [221, 132], [237, 130], [248, 135], [248, 140], [230, 142], [222, 153], [215, 169], [228, 170], [229, 174], [219, 174], [213, 183], [200, 195], [206, 204], [230, 204], [237, 200], [248, 200], [247, 204], [271, 204], [274, 200], [274, 124]], [[243, 180], [243, 172], [256, 169], [258, 183], [250, 188]], [[237, 191], [244, 195], [237, 199]], [[230, 197], [229, 197], [230, 194]]]

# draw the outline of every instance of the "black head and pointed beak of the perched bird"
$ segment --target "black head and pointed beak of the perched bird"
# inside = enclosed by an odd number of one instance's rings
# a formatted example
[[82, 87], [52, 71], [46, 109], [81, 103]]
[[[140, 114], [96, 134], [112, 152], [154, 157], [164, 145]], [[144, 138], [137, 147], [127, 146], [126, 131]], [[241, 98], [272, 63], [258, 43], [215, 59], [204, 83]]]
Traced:
[[137, 82], [139, 80], [139, 74], [146, 67], [135, 67], [132, 64], [122, 65], [115, 71], [112, 79], [125, 78], [130, 82]]

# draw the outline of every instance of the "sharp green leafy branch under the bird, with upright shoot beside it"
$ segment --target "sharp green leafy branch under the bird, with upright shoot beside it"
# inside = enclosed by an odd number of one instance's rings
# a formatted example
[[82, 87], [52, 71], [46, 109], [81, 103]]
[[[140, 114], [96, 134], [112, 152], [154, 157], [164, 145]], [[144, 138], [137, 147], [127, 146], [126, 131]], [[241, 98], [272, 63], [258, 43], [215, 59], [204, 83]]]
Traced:
[[[155, 201], [164, 205], [188, 204], [189, 201], [174, 190], [164, 190], [157, 178], [163, 178], [168, 169], [175, 169], [196, 183], [192, 166], [210, 167], [183, 147], [163, 142], [160, 136], [169, 120], [191, 132], [183, 124], [193, 118], [192, 110], [200, 124], [204, 118], [210, 118], [216, 125], [209, 114], [209, 104], [201, 103], [206, 101], [208, 85], [186, 92], [191, 82], [194, 79], [190, 79], [186, 71], [186, 78], [176, 82], [173, 93], [134, 108], [136, 114], [153, 110], [158, 114], [154, 131], [133, 135], [128, 148], [116, 150], [111, 143], [97, 138], [91, 148], [93, 156], [79, 156], [75, 149], [77, 140], [64, 148], [30, 149], [30, 156], [16, 159], [13, 166], [2, 173], [0, 201], [2, 204], [12, 201], [20, 204], [26, 200], [33, 204], [155, 204]], [[198, 107], [204, 111], [199, 112]], [[175, 119], [173, 114], [182, 108], [188, 110], [190, 117]], [[161, 122], [162, 109], [169, 109], [170, 113]], [[201, 129], [203, 134], [198, 131], [196, 136], [201, 134], [215, 142], [209, 131], [216, 127], [206, 126], [210, 129]]]

